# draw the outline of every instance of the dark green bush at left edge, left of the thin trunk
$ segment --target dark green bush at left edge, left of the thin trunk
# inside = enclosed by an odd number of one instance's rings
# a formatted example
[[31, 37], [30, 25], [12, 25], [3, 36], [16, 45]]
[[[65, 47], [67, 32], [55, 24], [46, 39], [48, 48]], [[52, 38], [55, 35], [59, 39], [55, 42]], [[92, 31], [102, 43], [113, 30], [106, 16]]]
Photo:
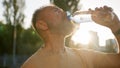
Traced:
[[0, 23], [0, 54], [12, 53], [13, 27], [9, 24]]

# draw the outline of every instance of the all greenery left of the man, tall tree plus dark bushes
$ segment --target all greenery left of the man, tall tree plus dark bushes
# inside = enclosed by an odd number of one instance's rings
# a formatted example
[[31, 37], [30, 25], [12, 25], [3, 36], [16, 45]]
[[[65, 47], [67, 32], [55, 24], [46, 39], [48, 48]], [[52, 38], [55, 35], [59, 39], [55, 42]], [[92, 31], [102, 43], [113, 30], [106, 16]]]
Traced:
[[3, 0], [3, 6], [7, 24], [0, 23], [0, 55], [13, 54], [13, 50], [15, 54], [34, 53], [42, 41], [33, 29], [25, 30], [21, 27], [25, 0]]

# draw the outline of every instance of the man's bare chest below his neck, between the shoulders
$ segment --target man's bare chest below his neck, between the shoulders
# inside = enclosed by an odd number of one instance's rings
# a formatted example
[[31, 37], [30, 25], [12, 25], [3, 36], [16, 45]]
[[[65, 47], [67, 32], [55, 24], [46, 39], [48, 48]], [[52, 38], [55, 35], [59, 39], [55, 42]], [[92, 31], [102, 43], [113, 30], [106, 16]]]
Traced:
[[81, 58], [71, 52], [43, 56], [36, 60], [36, 68], [85, 68], [82, 64]]

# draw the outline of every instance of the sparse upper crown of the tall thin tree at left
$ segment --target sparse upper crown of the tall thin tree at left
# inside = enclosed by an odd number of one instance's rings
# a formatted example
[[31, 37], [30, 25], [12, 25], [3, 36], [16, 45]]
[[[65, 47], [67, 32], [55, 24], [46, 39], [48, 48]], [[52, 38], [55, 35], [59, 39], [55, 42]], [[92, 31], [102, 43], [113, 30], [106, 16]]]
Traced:
[[23, 23], [24, 20], [24, 0], [3, 0], [4, 6], [4, 17], [6, 19], [6, 23], [10, 23], [12, 25], [17, 25]]

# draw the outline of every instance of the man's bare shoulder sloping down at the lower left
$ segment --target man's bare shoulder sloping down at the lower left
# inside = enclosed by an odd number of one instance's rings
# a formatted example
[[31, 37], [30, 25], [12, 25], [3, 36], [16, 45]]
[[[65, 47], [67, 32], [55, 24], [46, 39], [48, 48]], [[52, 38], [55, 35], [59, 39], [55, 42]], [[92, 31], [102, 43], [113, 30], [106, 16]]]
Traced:
[[41, 49], [38, 49], [31, 57], [29, 57], [21, 66], [21, 68], [40, 68], [42, 65]]

